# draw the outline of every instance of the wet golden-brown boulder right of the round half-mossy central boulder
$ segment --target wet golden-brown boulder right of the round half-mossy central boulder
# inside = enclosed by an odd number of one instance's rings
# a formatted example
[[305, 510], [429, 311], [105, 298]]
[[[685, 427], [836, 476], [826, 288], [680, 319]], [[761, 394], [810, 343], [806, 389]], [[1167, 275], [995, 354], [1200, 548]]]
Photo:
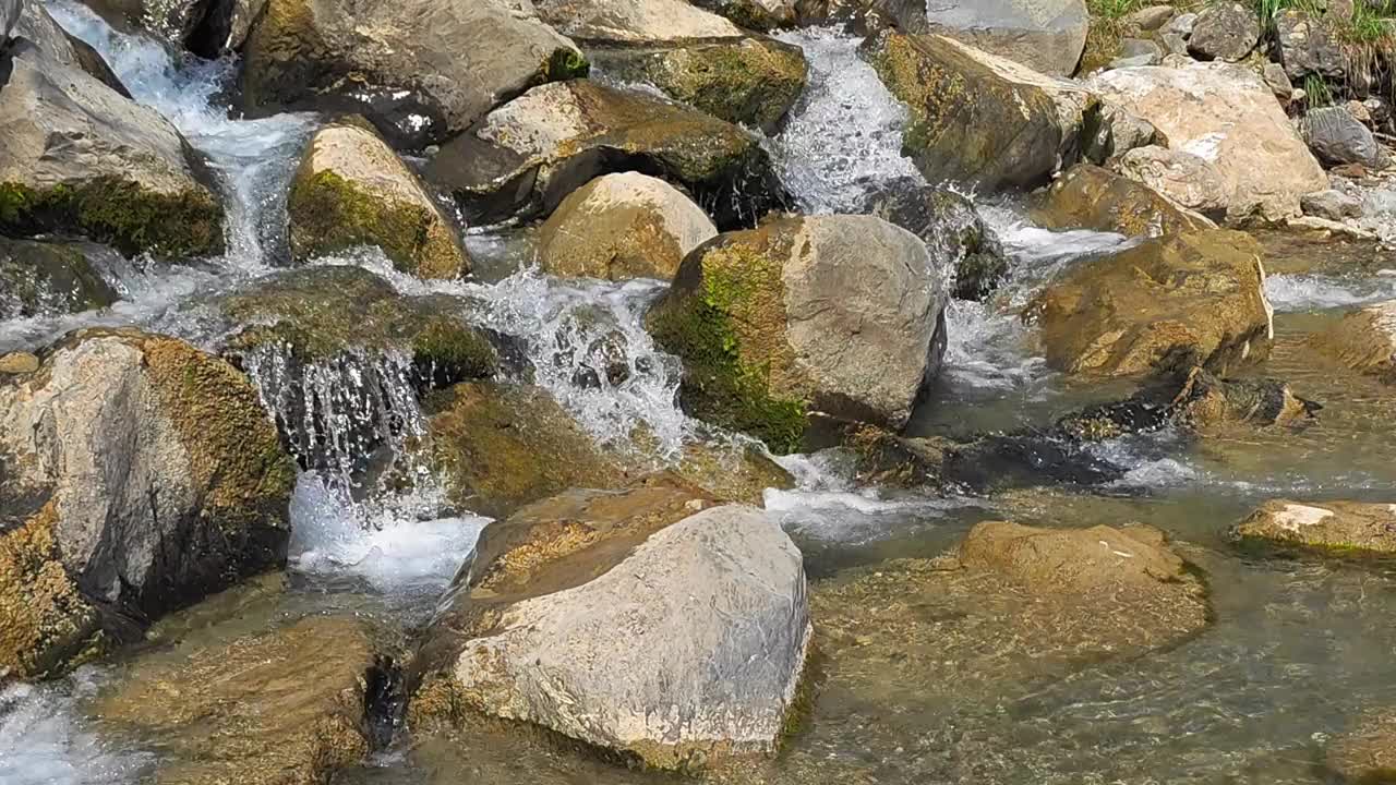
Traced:
[[1047, 362], [1096, 377], [1263, 360], [1275, 328], [1261, 246], [1209, 229], [1146, 240], [1087, 261], [1029, 303]]

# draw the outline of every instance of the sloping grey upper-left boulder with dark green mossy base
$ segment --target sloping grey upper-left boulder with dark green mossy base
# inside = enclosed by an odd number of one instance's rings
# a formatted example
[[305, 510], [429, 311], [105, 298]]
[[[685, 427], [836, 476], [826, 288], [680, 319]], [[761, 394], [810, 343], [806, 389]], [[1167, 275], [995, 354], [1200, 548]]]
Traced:
[[0, 233], [82, 233], [169, 258], [222, 250], [223, 210], [169, 122], [28, 42], [0, 70]]

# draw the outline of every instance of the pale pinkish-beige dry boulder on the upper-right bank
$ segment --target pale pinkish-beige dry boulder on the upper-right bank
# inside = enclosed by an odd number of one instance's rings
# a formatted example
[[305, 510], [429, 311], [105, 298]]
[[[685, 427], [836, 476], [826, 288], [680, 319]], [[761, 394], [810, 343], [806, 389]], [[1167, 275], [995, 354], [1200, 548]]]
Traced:
[[1153, 123], [1170, 149], [1216, 166], [1230, 219], [1258, 214], [1283, 221], [1298, 215], [1301, 196], [1328, 187], [1270, 88], [1248, 68], [1224, 63], [1122, 68], [1094, 77], [1089, 88]]

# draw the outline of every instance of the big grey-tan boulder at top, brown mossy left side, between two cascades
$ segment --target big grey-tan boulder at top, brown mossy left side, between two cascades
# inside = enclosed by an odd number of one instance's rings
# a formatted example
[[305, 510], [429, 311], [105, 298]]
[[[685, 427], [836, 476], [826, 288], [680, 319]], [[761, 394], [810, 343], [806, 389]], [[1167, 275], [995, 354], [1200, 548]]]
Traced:
[[357, 112], [396, 148], [468, 129], [539, 82], [586, 73], [577, 46], [514, 0], [269, 0], [243, 50], [258, 115]]

